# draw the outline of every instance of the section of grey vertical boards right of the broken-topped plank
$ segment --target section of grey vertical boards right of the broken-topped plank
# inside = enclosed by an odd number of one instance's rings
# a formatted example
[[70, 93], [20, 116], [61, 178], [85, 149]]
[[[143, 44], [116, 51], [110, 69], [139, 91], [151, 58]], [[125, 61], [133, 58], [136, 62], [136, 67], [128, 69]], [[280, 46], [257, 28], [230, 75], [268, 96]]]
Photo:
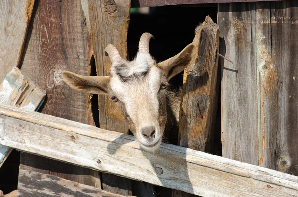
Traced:
[[223, 156], [298, 175], [298, 1], [220, 4]]

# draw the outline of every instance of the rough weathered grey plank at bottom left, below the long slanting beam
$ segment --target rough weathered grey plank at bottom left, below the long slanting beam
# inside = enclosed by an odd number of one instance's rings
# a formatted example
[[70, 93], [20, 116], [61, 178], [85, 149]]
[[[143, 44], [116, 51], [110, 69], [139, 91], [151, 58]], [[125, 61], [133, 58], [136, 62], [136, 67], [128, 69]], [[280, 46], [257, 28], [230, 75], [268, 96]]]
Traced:
[[57, 176], [20, 170], [18, 197], [124, 197]]

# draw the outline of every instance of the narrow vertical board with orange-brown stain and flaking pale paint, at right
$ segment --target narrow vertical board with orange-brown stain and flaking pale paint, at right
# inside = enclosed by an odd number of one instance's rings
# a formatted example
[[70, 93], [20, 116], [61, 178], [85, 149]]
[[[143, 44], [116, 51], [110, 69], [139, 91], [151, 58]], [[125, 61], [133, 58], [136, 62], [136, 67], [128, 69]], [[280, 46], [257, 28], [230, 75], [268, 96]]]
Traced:
[[[256, 60], [259, 76], [259, 165], [275, 169], [278, 76], [271, 48], [270, 2], [256, 3]], [[256, 155], [257, 156], [257, 155]]]

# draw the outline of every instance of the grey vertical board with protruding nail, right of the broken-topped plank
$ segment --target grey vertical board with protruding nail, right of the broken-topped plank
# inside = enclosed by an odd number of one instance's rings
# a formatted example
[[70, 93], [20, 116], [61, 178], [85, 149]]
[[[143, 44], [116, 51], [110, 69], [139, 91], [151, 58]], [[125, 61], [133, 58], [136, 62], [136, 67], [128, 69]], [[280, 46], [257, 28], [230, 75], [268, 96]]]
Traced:
[[219, 4], [223, 156], [258, 165], [255, 3]]

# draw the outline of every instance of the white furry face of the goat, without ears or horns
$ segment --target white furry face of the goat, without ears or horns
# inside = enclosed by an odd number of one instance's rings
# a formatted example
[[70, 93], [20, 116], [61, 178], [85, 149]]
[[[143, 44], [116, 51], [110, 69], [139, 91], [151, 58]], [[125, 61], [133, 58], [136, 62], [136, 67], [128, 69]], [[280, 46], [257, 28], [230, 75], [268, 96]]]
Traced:
[[[126, 62], [123, 69], [117, 68], [121, 76], [132, 76], [132, 80], [123, 82], [116, 74], [116, 69], [112, 69], [110, 88], [118, 98], [124, 103], [126, 112], [136, 126], [136, 137], [144, 149], [153, 150], [154, 147], [146, 147], [158, 142], [161, 143], [162, 131], [159, 125], [159, 103], [157, 94], [161, 84], [162, 71], [154, 64], [151, 56], [138, 54], [134, 61]], [[143, 78], [134, 78], [134, 74], [147, 72]], [[155, 139], [148, 142], [141, 134], [141, 129], [146, 126], [155, 127]], [[156, 147], [157, 148], [157, 147]]]

